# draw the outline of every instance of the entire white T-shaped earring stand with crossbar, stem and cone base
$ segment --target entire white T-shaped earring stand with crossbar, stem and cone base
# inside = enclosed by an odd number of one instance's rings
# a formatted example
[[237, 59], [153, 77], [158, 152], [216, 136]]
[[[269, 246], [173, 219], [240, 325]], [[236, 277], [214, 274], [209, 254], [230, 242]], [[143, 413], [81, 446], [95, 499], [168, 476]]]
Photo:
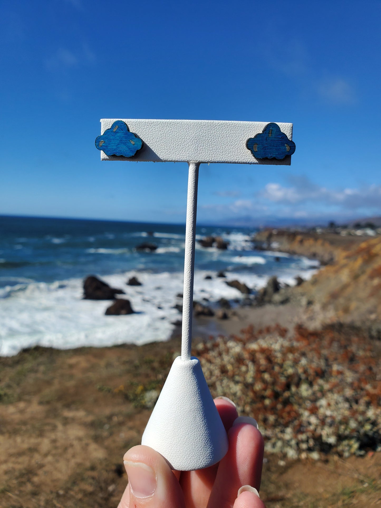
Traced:
[[[102, 150], [102, 160], [192, 161], [188, 162], [181, 357], [177, 357], [173, 362], [144, 430], [142, 444], [161, 453], [172, 469], [180, 471], [202, 469], [224, 457], [228, 451], [228, 437], [200, 362], [190, 356], [199, 166], [202, 162], [290, 165], [291, 155], [288, 155], [286, 150], [287, 152], [291, 150], [291, 153], [295, 150], [292, 142], [292, 124], [136, 119], [106, 119], [101, 122], [102, 134], [97, 138], [96, 146]], [[112, 132], [119, 129], [120, 133], [124, 129], [120, 122], [124, 122], [129, 128], [125, 129], [128, 133], [125, 143], [130, 143], [125, 153], [129, 154], [131, 143], [142, 147], [133, 156], [120, 155], [123, 153], [124, 141], [119, 139], [117, 142], [113, 141]], [[274, 153], [282, 155], [281, 150], [285, 153], [281, 159], [274, 158], [276, 155], [270, 150], [271, 128], [275, 133], [273, 139], [277, 143], [275, 148], [278, 150]], [[263, 145], [261, 137], [264, 139]], [[251, 140], [251, 145], [248, 140]], [[285, 145], [284, 149], [280, 142]], [[270, 155], [261, 159], [256, 158], [254, 154], [262, 153], [261, 150]]]

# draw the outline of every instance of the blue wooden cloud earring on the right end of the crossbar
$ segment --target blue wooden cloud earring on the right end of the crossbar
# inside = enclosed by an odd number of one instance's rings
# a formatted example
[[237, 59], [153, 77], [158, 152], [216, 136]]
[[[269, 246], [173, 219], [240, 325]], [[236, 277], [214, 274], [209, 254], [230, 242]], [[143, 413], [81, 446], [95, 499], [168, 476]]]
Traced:
[[276, 123], [268, 123], [264, 130], [246, 141], [246, 147], [257, 159], [283, 159], [295, 152], [295, 143], [291, 141]]

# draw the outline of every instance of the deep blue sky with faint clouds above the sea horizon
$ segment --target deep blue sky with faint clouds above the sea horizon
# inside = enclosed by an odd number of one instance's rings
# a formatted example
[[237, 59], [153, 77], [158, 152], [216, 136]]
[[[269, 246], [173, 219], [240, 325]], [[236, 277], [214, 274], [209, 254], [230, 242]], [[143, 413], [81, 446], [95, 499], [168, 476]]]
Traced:
[[204, 223], [381, 214], [381, 3], [3, 3], [0, 214], [185, 220], [185, 164], [107, 163], [100, 118], [294, 123], [292, 165], [200, 167]]

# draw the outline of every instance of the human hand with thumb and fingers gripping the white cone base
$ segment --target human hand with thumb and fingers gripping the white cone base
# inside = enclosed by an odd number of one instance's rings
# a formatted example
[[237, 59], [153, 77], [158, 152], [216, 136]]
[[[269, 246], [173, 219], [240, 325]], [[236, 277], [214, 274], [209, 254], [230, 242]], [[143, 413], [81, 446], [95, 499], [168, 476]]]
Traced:
[[228, 432], [225, 457], [205, 469], [172, 471], [160, 453], [135, 446], [123, 457], [129, 484], [118, 508], [266, 508], [258, 496], [264, 443], [256, 421], [237, 418], [225, 397], [214, 403]]

